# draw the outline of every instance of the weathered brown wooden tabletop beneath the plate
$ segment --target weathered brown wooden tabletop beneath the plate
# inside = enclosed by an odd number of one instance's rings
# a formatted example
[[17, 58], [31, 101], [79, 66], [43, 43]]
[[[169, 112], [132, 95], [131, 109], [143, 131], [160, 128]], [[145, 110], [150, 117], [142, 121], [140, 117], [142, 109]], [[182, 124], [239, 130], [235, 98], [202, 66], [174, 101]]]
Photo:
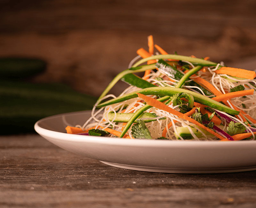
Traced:
[[256, 171], [140, 172], [75, 155], [36, 134], [0, 141], [0, 207], [255, 208]]

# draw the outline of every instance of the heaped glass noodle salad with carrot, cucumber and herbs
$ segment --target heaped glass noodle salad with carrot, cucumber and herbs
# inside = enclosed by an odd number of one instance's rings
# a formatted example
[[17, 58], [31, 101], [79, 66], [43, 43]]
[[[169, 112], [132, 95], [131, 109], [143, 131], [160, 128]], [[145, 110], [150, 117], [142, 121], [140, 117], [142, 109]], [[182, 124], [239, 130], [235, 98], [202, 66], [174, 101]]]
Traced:
[[[67, 133], [130, 139], [255, 140], [255, 71], [227, 67], [209, 57], [168, 54], [154, 45], [152, 36], [148, 46], [148, 51], [140, 48], [128, 69], [109, 83], [84, 125], [67, 126]], [[139, 77], [138, 72], [145, 74]], [[117, 97], [108, 94], [118, 80], [129, 86]]]

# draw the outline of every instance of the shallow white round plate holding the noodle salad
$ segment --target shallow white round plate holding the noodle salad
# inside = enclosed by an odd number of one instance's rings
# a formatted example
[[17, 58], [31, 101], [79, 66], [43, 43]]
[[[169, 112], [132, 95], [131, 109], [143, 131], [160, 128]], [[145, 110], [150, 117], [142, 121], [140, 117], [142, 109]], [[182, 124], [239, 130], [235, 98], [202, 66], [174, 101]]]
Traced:
[[256, 170], [256, 141], [170, 141], [119, 139], [65, 133], [84, 124], [90, 111], [50, 116], [35, 130], [68, 151], [115, 167], [167, 173], [220, 173]]

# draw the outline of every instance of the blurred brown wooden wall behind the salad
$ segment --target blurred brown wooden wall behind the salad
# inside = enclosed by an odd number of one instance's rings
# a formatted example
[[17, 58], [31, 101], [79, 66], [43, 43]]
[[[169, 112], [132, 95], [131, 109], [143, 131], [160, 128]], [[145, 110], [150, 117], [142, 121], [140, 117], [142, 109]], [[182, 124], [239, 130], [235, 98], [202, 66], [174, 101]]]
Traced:
[[169, 53], [253, 67], [255, 9], [254, 0], [2, 0], [0, 56], [41, 58], [47, 70], [28, 81], [99, 96], [148, 35]]

